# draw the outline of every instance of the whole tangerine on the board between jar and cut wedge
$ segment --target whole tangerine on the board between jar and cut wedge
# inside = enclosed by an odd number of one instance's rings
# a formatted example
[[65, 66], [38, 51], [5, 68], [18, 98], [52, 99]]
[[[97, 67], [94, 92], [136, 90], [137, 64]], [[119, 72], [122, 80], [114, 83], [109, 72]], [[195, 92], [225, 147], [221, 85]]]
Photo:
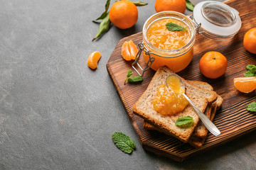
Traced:
[[210, 79], [221, 77], [228, 67], [228, 61], [220, 52], [210, 51], [201, 57], [199, 69], [201, 73]]

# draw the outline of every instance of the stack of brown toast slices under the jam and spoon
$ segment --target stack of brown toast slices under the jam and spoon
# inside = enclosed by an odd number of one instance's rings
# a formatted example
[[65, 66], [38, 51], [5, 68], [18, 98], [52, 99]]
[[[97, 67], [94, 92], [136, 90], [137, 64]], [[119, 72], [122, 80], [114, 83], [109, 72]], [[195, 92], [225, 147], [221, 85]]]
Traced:
[[[175, 115], [161, 115], [152, 106], [157, 89], [161, 84], [165, 84], [166, 77], [173, 73], [168, 67], [160, 67], [144, 94], [134, 104], [133, 111], [144, 119], [144, 128], [146, 130], [158, 130], [166, 135], [174, 136], [182, 142], [188, 142], [193, 147], [201, 147], [206, 140], [208, 130], [192, 106], [186, 106], [183, 111]], [[185, 79], [183, 79], [183, 82], [186, 88], [186, 96], [213, 121], [216, 111], [223, 103], [223, 98], [216, 94], [213, 91], [213, 87], [206, 82]], [[193, 118], [193, 126], [190, 128], [178, 128], [175, 125], [176, 120], [188, 115]]]

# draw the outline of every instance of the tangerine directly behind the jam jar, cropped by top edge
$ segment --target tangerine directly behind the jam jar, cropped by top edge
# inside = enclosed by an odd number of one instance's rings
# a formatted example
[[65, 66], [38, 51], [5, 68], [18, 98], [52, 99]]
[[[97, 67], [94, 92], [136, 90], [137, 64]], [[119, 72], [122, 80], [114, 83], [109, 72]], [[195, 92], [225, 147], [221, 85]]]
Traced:
[[176, 11], [179, 13], [185, 13], [186, 0], [156, 0], [155, 9], [156, 12]]

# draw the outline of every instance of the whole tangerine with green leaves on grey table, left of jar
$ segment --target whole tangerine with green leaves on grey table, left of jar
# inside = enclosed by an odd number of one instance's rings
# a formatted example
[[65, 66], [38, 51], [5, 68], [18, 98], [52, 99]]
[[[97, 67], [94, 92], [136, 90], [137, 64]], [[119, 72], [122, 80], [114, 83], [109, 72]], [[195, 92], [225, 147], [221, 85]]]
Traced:
[[110, 8], [110, 21], [120, 29], [134, 26], [138, 20], [138, 9], [132, 1], [117, 1]]

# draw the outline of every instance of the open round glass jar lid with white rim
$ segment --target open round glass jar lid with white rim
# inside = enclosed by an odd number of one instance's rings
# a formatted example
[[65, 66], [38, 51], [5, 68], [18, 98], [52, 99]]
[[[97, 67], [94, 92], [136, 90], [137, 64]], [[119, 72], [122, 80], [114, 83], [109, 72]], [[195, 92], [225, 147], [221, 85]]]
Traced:
[[198, 33], [214, 40], [228, 40], [238, 33], [241, 19], [238, 11], [218, 1], [202, 1], [193, 11], [193, 20], [200, 24]]

